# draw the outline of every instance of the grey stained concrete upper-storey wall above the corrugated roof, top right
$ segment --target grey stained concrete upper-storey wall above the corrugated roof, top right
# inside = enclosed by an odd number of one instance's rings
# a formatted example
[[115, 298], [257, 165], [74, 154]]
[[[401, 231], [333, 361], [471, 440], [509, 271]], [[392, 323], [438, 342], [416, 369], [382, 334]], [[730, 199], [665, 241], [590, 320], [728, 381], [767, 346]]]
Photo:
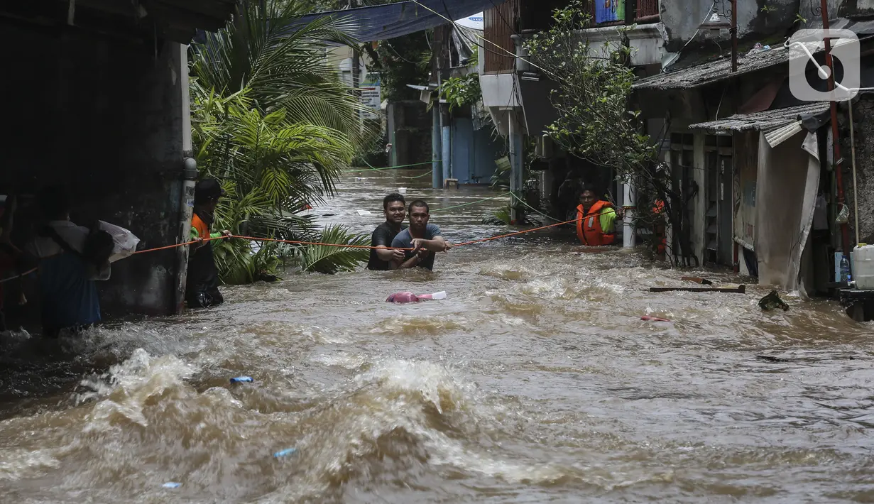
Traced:
[[[739, 38], [757, 38], [775, 33], [782, 33], [794, 24], [795, 14], [800, 3], [808, 0], [738, 0], [738, 36]], [[721, 9], [722, 2], [717, 3]], [[676, 52], [686, 42], [695, 36], [698, 26], [707, 19], [707, 13], [713, 4], [712, 0], [661, 0], [662, 23], [668, 32], [668, 51]], [[773, 11], [762, 11], [767, 6]], [[725, 2], [725, 8], [730, 3]], [[731, 40], [728, 30], [720, 32], [718, 37], [709, 33], [698, 33], [696, 40], [704, 42], [705, 38], [713, 38], [720, 44]]]

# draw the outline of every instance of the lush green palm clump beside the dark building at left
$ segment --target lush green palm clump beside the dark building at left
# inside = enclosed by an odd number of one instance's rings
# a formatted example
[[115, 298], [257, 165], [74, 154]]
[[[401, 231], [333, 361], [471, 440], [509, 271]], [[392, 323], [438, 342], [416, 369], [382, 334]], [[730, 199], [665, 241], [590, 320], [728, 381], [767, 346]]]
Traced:
[[[312, 220], [298, 215], [334, 194], [361, 139], [361, 106], [324, 59], [326, 45], [353, 43], [343, 20], [294, 25], [298, 14], [295, 3], [244, 0], [224, 30], [191, 46], [198, 167], [227, 191], [216, 215], [222, 228], [262, 238], [357, 244], [342, 230], [316, 236]], [[362, 259], [352, 249], [331, 248], [337, 250], [274, 244], [253, 253], [248, 243], [232, 241], [216, 245], [216, 258], [228, 283], [258, 280], [280, 264], [278, 256], [316, 257], [302, 266], [323, 273], [354, 268]]]

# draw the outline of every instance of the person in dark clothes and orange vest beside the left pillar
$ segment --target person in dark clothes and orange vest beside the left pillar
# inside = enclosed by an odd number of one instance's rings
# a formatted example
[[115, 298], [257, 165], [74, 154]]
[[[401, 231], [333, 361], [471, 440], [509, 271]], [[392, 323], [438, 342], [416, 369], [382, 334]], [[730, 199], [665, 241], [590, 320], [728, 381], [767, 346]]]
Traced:
[[189, 307], [219, 305], [225, 298], [218, 291], [218, 270], [212, 257], [212, 241], [205, 238], [229, 238], [231, 231], [210, 232], [218, 198], [225, 196], [218, 180], [207, 178], [194, 188], [194, 216], [191, 217], [191, 244], [188, 249], [188, 278], [185, 301]]

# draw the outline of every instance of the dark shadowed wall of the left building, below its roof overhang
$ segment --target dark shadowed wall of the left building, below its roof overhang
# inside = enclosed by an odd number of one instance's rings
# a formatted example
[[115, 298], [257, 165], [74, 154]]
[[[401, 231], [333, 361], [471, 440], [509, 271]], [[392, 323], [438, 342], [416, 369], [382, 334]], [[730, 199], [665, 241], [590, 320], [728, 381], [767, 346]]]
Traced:
[[[0, 184], [33, 194], [66, 186], [73, 221], [133, 231], [142, 247], [177, 241], [183, 169], [180, 45], [134, 45], [79, 30], [0, 24], [9, 133]], [[14, 76], [14, 78], [12, 77]], [[32, 199], [17, 215], [19, 243], [34, 230]], [[104, 312], [175, 311], [177, 252], [124, 259], [99, 282]]]

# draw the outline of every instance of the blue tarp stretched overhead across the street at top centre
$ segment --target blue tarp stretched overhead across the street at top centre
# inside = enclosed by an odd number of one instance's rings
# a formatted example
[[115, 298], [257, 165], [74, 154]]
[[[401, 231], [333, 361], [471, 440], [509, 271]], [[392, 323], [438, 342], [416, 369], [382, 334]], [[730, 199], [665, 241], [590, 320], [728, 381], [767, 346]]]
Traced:
[[[354, 25], [350, 35], [360, 42], [385, 40], [447, 24], [449, 19], [461, 19], [488, 10], [506, 0], [418, 0], [387, 3], [357, 9], [333, 10], [300, 17], [293, 27], [309, 24], [319, 17], [335, 16]], [[434, 11], [438, 12], [436, 14]]]

